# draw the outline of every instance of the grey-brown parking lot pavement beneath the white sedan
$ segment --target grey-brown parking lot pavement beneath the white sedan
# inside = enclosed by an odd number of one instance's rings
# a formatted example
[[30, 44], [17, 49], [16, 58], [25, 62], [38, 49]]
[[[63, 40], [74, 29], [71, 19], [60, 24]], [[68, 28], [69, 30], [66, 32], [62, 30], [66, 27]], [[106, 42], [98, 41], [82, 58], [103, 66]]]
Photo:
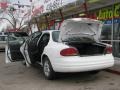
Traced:
[[25, 67], [21, 62], [5, 64], [0, 53], [0, 90], [120, 90], [120, 76], [106, 71], [60, 74], [56, 80], [46, 80], [38, 66]]

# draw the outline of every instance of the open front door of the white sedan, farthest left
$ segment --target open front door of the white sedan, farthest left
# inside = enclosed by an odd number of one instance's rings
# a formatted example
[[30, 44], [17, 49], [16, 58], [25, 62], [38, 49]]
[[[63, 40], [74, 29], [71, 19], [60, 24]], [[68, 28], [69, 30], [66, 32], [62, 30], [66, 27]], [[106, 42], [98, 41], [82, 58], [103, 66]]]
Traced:
[[20, 52], [20, 47], [24, 43], [25, 38], [8, 35], [6, 45], [6, 63], [23, 61], [24, 57]]

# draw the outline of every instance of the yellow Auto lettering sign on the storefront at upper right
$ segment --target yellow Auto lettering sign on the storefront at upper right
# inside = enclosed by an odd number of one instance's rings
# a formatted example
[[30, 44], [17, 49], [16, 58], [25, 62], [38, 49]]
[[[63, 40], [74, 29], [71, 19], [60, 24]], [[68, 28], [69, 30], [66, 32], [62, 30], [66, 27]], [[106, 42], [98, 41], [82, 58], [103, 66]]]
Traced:
[[98, 19], [99, 20], [112, 19], [113, 15], [114, 18], [120, 17], [120, 3], [114, 5], [114, 10], [112, 9], [112, 6], [100, 9]]

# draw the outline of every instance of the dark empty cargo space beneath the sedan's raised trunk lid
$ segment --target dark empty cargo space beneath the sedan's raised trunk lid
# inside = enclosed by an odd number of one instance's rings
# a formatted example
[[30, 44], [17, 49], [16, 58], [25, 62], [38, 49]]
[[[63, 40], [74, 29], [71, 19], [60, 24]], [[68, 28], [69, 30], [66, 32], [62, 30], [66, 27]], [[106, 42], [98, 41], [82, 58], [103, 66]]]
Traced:
[[105, 52], [106, 45], [100, 43], [69, 43], [68, 45], [77, 48], [80, 56], [102, 55]]

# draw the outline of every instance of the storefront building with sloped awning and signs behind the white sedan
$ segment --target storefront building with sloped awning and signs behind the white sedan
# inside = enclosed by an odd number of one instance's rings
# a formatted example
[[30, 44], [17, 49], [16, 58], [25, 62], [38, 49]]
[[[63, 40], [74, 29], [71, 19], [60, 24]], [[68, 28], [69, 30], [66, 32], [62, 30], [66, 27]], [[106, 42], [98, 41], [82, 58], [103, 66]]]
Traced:
[[33, 5], [36, 6], [33, 9], [35, 17], [31, 19], [31, 22], [37, 23], [39, 30], [59, 29], [67, 18], [98, 19], [104, 23], [101, 41], [112, 44], [113, 55], [120, 57], [120, 0], [75, 0], [64, 5], [63, 0], [41, 1]]

